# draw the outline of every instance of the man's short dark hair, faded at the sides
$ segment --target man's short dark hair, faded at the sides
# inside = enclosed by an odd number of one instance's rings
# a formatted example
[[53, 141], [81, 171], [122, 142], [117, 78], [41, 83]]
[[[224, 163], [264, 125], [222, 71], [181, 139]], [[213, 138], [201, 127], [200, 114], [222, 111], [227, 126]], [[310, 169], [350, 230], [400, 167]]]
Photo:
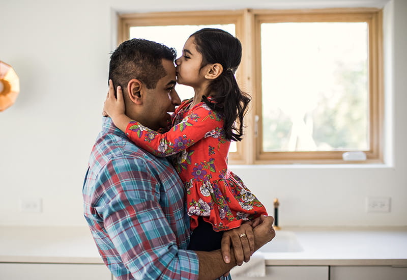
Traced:
[[159, 79], [167, 73], [162, 59], [174, 61], [177, 51], [163, 44], [145, 39], [124, 41], [110, 56], [109, 79], [114, 88], [121, 86], [127, 92], [131, 79], [139, 79], [148, 89], [155, 89]]

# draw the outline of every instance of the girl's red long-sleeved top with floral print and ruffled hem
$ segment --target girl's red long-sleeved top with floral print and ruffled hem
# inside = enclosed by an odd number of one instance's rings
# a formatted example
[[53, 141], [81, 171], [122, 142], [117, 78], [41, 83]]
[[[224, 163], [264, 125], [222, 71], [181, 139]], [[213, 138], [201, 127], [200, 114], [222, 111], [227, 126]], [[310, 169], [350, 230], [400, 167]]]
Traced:
[[221, 116], [203, 102], [189, 109], [191, 101], [177, 108], [168, 132], [158, 133], [131, 121], [127, 136], [156, 156], [174, 155], [173, 165], [187, 190], [192, 230], [198, 225], [198, 216], [210, 222], [215, 231], [222, 231], [267, 215], [263, 204], [227, 169], [230, 141], [225, 138]]

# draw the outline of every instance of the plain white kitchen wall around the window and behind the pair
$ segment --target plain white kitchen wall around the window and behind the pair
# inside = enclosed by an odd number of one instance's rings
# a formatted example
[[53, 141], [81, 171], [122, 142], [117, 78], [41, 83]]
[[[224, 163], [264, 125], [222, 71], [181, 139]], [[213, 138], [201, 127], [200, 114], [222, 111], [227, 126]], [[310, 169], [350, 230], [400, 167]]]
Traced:
[[[115, 12], [387, 2], [0, 0], [0, 60], [14, 67], [21, 86], [16, 104], [0, 113], [0, 225], [85, 225], [81, 188], [100, 129]], [[386, 5], [388, 164], [232, 166], [271, 213], [272, 200], [280, 199], [280, 225], [407, 226], [405, 14], [405, 0]], [[369, 195], [391, 197], [391, 212], [366, 213]], [[41, 198], [42, 213], [21, 213], [21, 198]]]

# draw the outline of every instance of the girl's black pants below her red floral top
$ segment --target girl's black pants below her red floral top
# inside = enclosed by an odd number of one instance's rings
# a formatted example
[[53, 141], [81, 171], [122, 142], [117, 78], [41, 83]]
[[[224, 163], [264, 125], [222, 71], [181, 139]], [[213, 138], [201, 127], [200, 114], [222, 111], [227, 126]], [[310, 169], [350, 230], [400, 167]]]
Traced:
[[223, 231], [216, 232], [212, 224], [198, 217], [198, 226], [192, 232], [188, 249], [195, 251], [213, 251], [220, 249]]

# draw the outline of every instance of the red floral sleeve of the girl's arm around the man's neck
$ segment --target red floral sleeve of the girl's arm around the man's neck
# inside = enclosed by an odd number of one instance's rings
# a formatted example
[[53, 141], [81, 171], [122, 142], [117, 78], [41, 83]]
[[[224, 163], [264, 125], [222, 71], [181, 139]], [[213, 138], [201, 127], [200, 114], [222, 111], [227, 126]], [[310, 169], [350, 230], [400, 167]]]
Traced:
[[126, 135], [132, 142], [159, 157], [177, 154], [202, 138], [221, 133], [224, 133], [223, 120], [205, 103], [196, 105], [179, 124], [165, 133], [136, 121], [131, 121], [126, 128]]

